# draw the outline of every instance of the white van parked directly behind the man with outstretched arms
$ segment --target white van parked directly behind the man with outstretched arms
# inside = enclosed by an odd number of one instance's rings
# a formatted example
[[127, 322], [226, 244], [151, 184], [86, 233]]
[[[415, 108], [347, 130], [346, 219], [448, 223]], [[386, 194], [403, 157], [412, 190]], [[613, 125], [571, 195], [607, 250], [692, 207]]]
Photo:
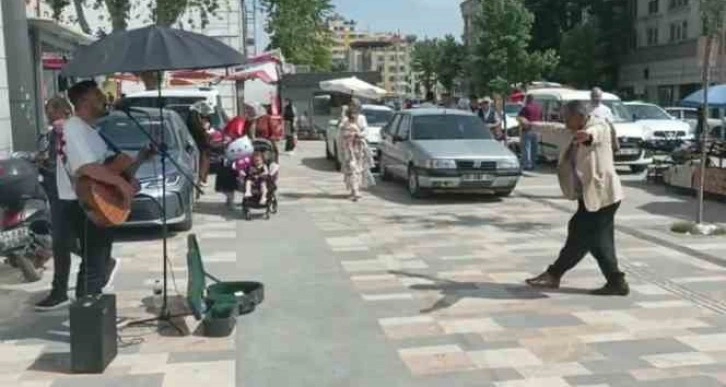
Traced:
[[[572, 141], [572, 134], [565, 129], [561, 119], [562, 106], [569, 101], [590, 101], [589, 90], [566, 88], [537, 89], [528, 92], [543, 111], [544, 122], [536, 125], [540, 133], [540, 155], [550, 161], [559, 158], [560, 152]], [[642, 172], [653, 162], [650, 152], [640, 143], [645, 139], [645, 129], [635, 122], [628, 109], [615, 94], [603, 93], [603, 103], [613, 111], [615, 131], [620, 151], [615, 155], [616, 166], [628, 166], [633, 172]]]

